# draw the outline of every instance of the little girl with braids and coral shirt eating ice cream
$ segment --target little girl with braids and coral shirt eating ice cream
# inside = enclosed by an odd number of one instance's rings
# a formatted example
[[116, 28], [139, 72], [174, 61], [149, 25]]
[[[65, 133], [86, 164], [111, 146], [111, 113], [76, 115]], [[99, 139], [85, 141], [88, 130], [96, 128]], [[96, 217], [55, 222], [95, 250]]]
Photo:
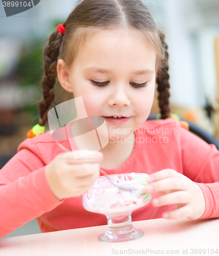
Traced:
[[[153, 198], [133, 221], [219, 217], [219, 152], [169, 118], [167, 60], [164, 34], [140, 0], [84, 0], [70, 13], [44, 47], [39, 125], [58, 75], [65, 90], [82, 97], [88, 116], [105, 118], [109, 143], [93, 159], [74, 160], [50, 133], [23, 141], [0, 171], [0, 237], [34, 218], [42, 232], [107, 224], [80, 197], [100, 168], [149, 174], [145, 189]], [[155, 81], [161, 119], [146, 121]], [[60, 143], [71, 151], [68, 140]]]

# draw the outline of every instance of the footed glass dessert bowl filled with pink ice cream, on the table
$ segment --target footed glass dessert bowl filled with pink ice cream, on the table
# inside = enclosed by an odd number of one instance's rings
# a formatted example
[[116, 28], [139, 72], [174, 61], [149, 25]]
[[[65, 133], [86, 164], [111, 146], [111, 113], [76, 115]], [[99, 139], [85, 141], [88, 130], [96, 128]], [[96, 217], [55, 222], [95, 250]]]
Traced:
[[135, 189], [119, 189], [111, 184], [106, 176], [101, 176], [82, 195], [82, 204], [86, 210], [107, 217], [107, 231], [99, 236], [99, 240], [121, 242], [142, 237], [143, 231], [136, 230], [132, 225], [131, 214], [133, 210], [148, 204], [152, 198], [152, 195], [144, 190], [148, 184], [148, 174], [114, 174], [109, 175], [109, 178]]

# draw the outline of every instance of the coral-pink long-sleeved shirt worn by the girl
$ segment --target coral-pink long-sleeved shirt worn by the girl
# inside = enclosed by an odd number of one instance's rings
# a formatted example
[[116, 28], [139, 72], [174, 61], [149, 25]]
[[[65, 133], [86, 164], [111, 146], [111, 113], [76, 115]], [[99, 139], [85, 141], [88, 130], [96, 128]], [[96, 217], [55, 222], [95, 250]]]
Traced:
[[[68, 140], [60, 142], [71, 150]], [[34, 218], [43, 232], [107, 224], [104, 215], [83, 208], [81, 197], [59, 201], [52, 193], [45, 165], [60, 153], [50, 133], [45, 133], [23, 141], [0, 170], [0, 237]], [[101, 169], [108, 174], [152, 174], [165, 168], [177, 170], [201, 187], [206, 208], [200, 219], [219, 217], [219, 151], [183, 129], [177, 120], [146, 121], [135, 131], [130, 157], [117, 168]], [[176, 208], [176, 204], [154, 207], [150, 202], [133, 211], [132, 220], [161, 218], [164, 211]]]

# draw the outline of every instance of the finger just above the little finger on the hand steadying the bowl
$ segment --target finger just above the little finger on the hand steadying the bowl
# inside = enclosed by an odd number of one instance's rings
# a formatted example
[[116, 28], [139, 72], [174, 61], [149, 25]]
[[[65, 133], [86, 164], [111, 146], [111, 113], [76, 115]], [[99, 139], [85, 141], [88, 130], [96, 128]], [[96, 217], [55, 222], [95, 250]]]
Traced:
[[169, 204], [187, 204], [189, 202], [190, 197], [187, 191], [176, 191], [152, 200], [152, 204], [156, 207]]

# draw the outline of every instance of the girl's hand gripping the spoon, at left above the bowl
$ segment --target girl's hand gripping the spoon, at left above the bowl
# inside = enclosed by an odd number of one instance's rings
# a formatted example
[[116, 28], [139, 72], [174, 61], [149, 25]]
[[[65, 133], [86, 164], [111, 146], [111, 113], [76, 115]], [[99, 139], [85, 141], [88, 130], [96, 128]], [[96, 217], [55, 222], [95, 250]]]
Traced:
[[59, 199], [83, 194], [100, 176], [101, 152], [74, 159], [72, 152], [56, 156], [45, 168], [45, 175], [53, 194]]

